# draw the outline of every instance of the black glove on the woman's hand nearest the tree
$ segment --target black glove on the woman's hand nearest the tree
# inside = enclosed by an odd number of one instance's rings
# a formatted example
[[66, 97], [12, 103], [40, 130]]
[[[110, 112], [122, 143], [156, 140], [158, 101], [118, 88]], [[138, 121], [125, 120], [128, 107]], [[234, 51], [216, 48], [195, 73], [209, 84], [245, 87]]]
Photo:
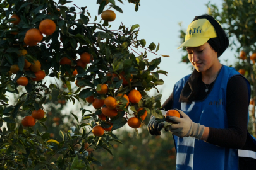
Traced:
[[[165, 116], [162, 119], [157, 119], [155, 116], [152, 116], [149, 120], [149, 124], [147, 125], [147, 130], [151, 135], [159, 136], [161, 135], [161, 130], [164, 127]], [[167, 132], [168, 129], [164, 128], [164, 130]]]

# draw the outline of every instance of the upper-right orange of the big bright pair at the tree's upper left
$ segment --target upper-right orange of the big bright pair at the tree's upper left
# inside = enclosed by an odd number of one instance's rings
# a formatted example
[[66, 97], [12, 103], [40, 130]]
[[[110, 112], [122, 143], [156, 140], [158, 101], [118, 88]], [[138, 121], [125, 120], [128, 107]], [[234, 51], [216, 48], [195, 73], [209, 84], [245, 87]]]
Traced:
[[40, 22], [39, 30], [45, 35], [52, 35], [56, 30], [56, 24], [50, 19], [45, 19]]

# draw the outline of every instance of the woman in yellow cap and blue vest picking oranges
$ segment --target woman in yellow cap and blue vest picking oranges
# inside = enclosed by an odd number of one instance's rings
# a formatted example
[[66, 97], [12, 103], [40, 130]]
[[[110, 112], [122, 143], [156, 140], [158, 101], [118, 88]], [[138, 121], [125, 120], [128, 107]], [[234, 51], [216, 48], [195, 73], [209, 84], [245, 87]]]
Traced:
[[[179, 47], [186, 47], [195, 69], [175, 84], [162, 105], [182, 117], [165, 118], [175, 122], [168, 130], [176, 147], [176, 169], [256, 169], [256, 141], [247, 131], [250, 84], [219, 62], [228, 46], [219, 22], [202, 15], [190, 23]], [[161, 135], [162, 127], [152, 116], [150, 134]]]

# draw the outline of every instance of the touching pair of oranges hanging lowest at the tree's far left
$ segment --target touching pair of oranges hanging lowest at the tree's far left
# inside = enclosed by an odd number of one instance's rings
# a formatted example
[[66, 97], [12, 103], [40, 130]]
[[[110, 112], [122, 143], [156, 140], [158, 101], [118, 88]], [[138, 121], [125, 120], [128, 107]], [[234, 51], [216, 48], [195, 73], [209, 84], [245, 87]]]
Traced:
[[24, 127], [34, 127], [35, 125], [35, 120], [40, 120], [44, 118], [44, 110], [39, 109], [39, 110], [34, 110], [32, 111], [31, 116], [25, 116], [21, 123]]

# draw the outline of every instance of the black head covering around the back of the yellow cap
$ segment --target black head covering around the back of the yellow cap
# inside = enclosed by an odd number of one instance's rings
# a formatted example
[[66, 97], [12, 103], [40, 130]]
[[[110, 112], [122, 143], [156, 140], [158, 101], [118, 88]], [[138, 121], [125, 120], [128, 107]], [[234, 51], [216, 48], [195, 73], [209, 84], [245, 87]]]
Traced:
[[198, 19], [207, 19], [212, 24], [212, 26], [214, 26], [217, 37], [210, 38], [208, 40], [208, 43], [214, 49], [214, 51], [217, 52], [217, 56], [218, 57], [221, 56], [221, 54], [223, 54], [223, 52], [229, 46], [229, 40], [228, 40], [228, 36], [226, 35], [226, 32], [223, 30], [221, 25], [219, 25], [219, 23], [212, 16], [210, 16], [208, 14], [195, 16], [193, 21], [198, 20]]

